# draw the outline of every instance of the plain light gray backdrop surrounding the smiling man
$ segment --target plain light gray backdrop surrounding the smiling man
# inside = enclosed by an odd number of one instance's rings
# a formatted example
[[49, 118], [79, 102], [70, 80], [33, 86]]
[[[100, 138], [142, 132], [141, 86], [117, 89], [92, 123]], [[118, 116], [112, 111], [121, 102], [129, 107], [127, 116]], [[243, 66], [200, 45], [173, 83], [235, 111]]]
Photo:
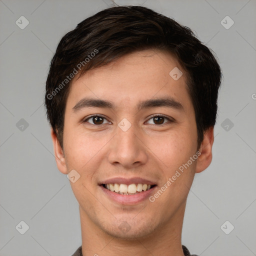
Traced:
[[[223, 80], [213, 160], [190, 189], [182, 243], [204, 256], [256, 255], [256, 1], [116, 3], [174, 18], [216, 53]], [[81, 245], [78, 203], [53, 157], [44, 86], [60, 38], [108, 6], [110, 0], [0, 0], [0, 256], [68, 256]], [[24, 29], [15, 23], [21, 15], [29, 21]], [[234, 21], [229, 29], [220, 23], [226, 15]], [[21, 220], [29, 226], [24, 234], [15, 228]], [[229, 234], [220, 228], [226, 220], [234, 226]]]

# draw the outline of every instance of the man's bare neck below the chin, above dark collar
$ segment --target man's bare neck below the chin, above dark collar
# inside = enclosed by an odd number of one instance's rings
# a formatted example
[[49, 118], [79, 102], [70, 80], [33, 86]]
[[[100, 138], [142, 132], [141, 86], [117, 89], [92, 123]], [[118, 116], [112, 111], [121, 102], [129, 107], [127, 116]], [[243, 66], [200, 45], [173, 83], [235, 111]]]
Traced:
[[161, 223], [153, 232], [143, 237], [121, 239], [103, 231], [79, 206], [81, 220], [82, 255], [89, 256], [184, 256], [181, 247], [181, 230], [185, 203], [168, 222]]

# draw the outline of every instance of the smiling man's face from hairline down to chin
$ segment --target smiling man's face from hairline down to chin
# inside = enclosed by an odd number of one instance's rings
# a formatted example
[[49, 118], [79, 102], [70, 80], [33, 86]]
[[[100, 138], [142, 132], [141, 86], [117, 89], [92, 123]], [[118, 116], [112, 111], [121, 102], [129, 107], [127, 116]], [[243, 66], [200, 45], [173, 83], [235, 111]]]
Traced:
[[57, 165], [80, 175], [70, 185], [88, 226], [145, 237], [182, 220], [194, 173], [205, 168], [196, 141], [184, 71], [171, 55], [144, 50], [72, 81]]

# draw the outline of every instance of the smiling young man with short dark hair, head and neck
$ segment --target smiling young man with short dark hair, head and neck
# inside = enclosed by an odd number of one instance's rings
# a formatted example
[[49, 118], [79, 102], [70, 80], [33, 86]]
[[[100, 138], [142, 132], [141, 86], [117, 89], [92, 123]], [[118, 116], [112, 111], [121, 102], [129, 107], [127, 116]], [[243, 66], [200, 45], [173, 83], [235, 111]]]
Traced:
[[211, 162], [220, 80], [189, 28], [145, 7], [102, 10], [63, 36], [45, 106], [79, 203], [73, 255], [190, 255], [186, 198]]

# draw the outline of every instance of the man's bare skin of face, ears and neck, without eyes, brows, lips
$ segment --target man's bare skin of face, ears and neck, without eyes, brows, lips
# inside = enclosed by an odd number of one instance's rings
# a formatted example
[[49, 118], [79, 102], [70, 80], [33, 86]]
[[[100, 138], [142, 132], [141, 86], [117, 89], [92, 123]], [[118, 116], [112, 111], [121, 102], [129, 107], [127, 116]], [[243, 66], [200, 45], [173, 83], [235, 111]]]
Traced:
[[[169, 75], [174, 67], [183, 72], [178, 80]], [[166, 95], [180, 102], [184, 111], [135, 107], [140, 100]], [[85, 96], [110, 100], [116, 109], [86, 107], [74, 112], [73, 106]], [[83, 122], [92, 114], [102, 115], [103, 124], [93, 118]], [[174, 121], [164, 118], [158, 124], [152, 114]], [[131, 123], [127, 131], [118, 127], [123, 118]], [[58, 169], [64, 174], [75, 169], [80, 175], [70, 185], [79, 203], [83, 256], [183, 255], [186, 198], [194, 174], [211, 162], [213, 127], [204, 133], [197, 160], [154, 202], [116, 203], [98, 185], [111, 177], [139, 176], [155, 181], [157, 191], [196, 153], [194, 109], [185, 72], [174, 57], [161, 51], [133, 52], [73, 79], [64, 114], [63, 150], [52, 129], [51, 137]], [[118, 228], [123, 221], [130, 226], [127, 232]]]

